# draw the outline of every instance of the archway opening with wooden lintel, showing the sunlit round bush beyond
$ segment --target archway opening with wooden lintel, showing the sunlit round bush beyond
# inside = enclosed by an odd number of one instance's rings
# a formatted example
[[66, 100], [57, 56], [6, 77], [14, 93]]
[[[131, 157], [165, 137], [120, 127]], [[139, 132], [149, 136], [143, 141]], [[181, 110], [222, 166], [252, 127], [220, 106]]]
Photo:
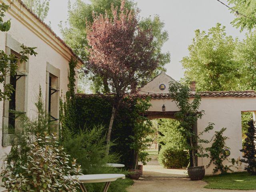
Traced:
[[148, 157], [151, 160], [144, 166], [143, 176], [186, 176], [189, 155], [186, 150], [186, 141], [178, 130], [179, 121], [175, 119], [174, 114], [175, 112], [146, 112], [144, 114], [153, 122], [154, 132], [148, 136], [153, 139], [148, 147]]

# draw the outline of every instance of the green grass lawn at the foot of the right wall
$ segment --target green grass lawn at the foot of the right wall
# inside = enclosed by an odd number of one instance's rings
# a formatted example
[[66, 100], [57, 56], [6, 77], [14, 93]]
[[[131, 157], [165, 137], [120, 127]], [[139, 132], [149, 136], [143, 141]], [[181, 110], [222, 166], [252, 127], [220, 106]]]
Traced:
[[208, 185], [206, 185], [205, 188], [211, 189], [256, 189], [256, 176], [251, 176], [247, 172], [236, 172], [216, 176], [205, 176], [204, 181], [208, 183]]

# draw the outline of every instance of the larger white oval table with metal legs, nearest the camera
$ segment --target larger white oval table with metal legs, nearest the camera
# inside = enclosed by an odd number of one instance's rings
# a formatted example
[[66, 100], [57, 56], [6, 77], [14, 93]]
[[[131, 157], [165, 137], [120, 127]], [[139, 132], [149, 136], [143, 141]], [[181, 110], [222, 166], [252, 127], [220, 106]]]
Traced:
[[125, 179], [124, 174], [92, 174], [92, 175], [80, 175], [78, 180], [80, 182], [80, 188], [82, 192], [87, 192], [84, 183], [101, 183], [106, 182], [105, 187], [102, 192], [107, 192], [110, 186], [110, 182], [117, 179]]

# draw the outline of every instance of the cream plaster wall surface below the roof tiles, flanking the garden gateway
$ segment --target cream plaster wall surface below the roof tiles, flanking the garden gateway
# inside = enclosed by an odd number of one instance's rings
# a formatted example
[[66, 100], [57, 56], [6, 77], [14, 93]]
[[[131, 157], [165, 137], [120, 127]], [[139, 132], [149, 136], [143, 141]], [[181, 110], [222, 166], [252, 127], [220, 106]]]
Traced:
[[[178, 108], [171, 99], [152, 99], [152, 107], [149, 111], [162, 111], [162, 105], [165, 104], [166, 111], [178, 111]], [[229, 139], [226, 140], [226, 145], [230, 148], [229, 158], [238, 160], [242, 158], [242, 123], [241, 112], [256, 110], [256, 97], [202, 97], [200, 110], [204, 110], [205, 114], [202, 119], [198, 120], [198, 132], [202, 132], [209, 122], [213, 122], [214, 130], [210, 133], [204, 134], [201, 138], [210, 140], [215, 131], [226, 127], [224, 136]], [[204, 144], [204, 147], [211, 146], [211, 144]], [[198, 158], [198, 165], [208, 165], [208, 158]], [[228, 164], [228, 162], [226, 162]], [[206, 174], [212, 174], [211, 165], [206, 168]], [[243, 171], [244, 165], [237, 168], [232, 168], [234, 171]]]

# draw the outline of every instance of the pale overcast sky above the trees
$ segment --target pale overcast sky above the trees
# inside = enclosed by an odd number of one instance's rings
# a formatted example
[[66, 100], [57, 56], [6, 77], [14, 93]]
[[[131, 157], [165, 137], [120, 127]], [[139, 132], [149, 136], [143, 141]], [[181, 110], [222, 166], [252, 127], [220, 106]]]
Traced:
[[[88, 2], [88, 0], [84, 0]], [[244, 32], [232, 27], [230, 22], [235, 18], [227, 7], [217, 0], [134, 0], [141, 9], [141, 17], [158, 14], [165, 23], [169, 40], [163, 51], [169, 51], [171, 62], [166, 64], [167, 74], [175, 80], [184, 76], [180, 60], [188, 55], [188, 45], [194, 37], [194, 30], [208, 30], [217, 22], [226, 26], [228, 35], [243, 39]], [[75, 2], [75, 0], [71, 0]], [[226, 0], [222, 2], [227, 4]], [[51, 21], [54, 32], [61, 37], [58, 24], [67, 19], [68, 0], [51, 0], [50, 11], [45, 22]]]

